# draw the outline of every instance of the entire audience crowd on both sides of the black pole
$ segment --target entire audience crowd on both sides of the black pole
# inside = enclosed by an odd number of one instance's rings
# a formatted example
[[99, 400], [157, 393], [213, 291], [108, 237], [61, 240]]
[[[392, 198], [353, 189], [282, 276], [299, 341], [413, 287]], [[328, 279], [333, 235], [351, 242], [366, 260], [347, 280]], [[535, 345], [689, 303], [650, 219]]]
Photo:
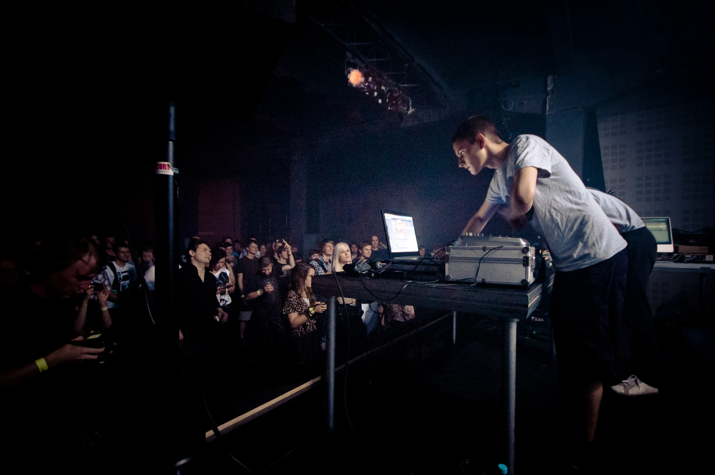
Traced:
[[[37, 329], [36, 320], [12, 322], [12, 334], [33, 334], [34, 343], [4, 347], [0, 386], [72, 361], [102, 360], [137, 322], [147, 323], [144, 296], [154, 291], [154, 246], [146, 242], [134, 251], [115, 236], [66, 233], [36, 241], [26, 256], [1, 259], [4, 301], [16, 303], [18, 314], [31, 303], [47, 324]], [[305, 257], [285, 239], [259, 244], [227, 236], [209, 246], [195, 236], [177, 274], [179, 346], [199, 365], [226, 354], [257, 364], [315, 361], [325, 351], [327, 297], [312, 291], [312, 276], [385, 259], [378, 236], [350, 244], [323, 239]], [[379, 301], [338, 304], [342, 340], [363, 341], [380, 326], [415, 316], [411, 306]], [[86, 344], [93, 339], [111, 347]]]

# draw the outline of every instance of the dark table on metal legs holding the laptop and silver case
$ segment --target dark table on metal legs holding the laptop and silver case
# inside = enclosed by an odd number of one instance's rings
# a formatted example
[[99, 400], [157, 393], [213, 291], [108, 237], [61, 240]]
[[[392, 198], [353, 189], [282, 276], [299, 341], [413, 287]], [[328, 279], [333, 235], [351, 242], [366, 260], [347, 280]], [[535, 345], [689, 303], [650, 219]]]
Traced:
[[506, 399], [506, 452], [509, 473], [514, 473], [514, 427], [516, 422], [516, 324], [526, 319], [551, 291], [553, 273], [546, 281], [528, 287], [479, 284], [405, 282], [368, 279], [345, 274], [313, 276], [315, 294], [330, 296], [327, 302], [327, 427], [332, 431], [335, 415], [335, 298], [386, 301], [430, 309], [451, 310], [452, 336], [456, 338], [457, 312], [497, 316], [504, 321], [503, 384]]

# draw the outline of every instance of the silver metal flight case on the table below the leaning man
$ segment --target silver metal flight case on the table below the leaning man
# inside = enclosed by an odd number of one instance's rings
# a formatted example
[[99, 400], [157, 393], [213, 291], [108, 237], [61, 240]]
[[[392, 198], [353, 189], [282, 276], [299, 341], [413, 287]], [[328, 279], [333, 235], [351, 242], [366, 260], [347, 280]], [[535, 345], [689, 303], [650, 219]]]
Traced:
[[525, 239], [461, 236], [447, 248], [445, 279], [529, 286], [537, 265], [536, 249]]

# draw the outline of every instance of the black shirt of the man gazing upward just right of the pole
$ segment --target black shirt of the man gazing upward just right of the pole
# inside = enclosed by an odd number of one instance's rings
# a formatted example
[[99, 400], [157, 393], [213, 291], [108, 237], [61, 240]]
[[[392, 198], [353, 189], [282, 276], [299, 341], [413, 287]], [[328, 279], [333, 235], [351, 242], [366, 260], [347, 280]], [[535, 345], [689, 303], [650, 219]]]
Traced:
[[179, 269], [179, 328], [187, 342], [215, 339], [220, 323], [219, 301], [216, 299], [216, 277], [208, 269], [204, 271], [204, 281], [199, 277], [199, 269], [189, 264]]

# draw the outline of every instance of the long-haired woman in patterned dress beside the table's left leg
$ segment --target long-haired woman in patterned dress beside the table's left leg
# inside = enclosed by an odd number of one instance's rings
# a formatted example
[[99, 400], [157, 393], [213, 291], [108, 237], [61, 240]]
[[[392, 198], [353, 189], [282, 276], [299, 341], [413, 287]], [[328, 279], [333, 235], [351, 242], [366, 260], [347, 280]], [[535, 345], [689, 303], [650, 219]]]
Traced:
[[315, 269], [300, 262], [290, 273], [290, 291], [283, 305], [283, 314], [290, 325], [290, 337], [297, 344], [300, 359], [312, 359], [320, 354], [320, 339], [317, 331], [317, 316], [327, 310], [327, 305], [315, 301], [312, 292], [312, 276]]

